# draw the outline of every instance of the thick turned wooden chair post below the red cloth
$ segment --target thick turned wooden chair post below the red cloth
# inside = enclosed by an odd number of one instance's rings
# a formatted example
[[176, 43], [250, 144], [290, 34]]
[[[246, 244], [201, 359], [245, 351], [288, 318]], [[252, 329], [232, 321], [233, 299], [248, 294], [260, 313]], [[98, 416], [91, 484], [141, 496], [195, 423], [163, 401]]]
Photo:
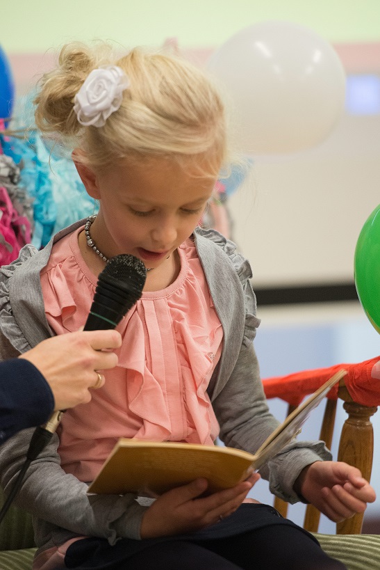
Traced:
[[[341, 394], [339, 394], [340, 397]], [[342, 399], [346, 399], [343, 397]], [[348, 397], [348, 399], [351, 399]], [[376, 407], [362, 406], [347, 401], [343, 404], [348, 418], [342, 427], [340, 436], [338, 461], [345, 461], [361, 470], [365, 479], [370, 481], [374, 448], [373, 427], [370, 417], [377, 411]], [[365, 445], [363, 444], [365, 443]], [[355, 535], [361, 533], [364, 514], [356, 514], [352, 518], [336, 525], [337, 535]]]

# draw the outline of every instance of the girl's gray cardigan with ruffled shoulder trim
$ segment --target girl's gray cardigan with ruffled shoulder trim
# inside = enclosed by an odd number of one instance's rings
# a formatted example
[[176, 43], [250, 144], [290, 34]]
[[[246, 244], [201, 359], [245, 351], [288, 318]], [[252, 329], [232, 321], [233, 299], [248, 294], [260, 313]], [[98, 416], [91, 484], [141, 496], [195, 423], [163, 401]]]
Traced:
[[[0, 270], [0, 358], [10, 358], [52, 334], [44, 312], [40, 271], [51, 247], [84, 221], [59, 232], [42, 250], [25, 246], [19, 259]], [[236, 246], [213, 230], [195, 232], [201, 260], [224, 338], [220, 361], [208, 395], [220, 422], [220, 438], [233, 448], [255, 452], [278, 425], [270, 414], [253, 340], [259, 320], [251, 289], [249, 262]], [[21, 467], [33, 429], [25, 429], [0, 448], [0, 481], [8, 492]], [[133, 494], [88, 496], [88, 485], [60, 468], [58, 436], [28, 468], [18, 503], [33, 514], [35, 541], [40, 551], [75, 536], [97, 536], [110, 544], [122, 537], [140, 538], [147, 506]], [[299, 498], [292, 486], [308, 464], [331, 459], [322, 442], [288, 445], [261, 471], [273, 493], [290, 502]]]

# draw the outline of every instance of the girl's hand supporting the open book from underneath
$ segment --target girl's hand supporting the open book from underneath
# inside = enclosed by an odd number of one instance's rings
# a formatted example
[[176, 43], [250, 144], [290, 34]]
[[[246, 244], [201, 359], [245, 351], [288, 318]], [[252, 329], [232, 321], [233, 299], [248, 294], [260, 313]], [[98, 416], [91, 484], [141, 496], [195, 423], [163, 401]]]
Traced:
[[213, 525], [232, 514], [242, 504], [252, 486], [260, 479], [253, 473], [232, 489], [199, 498], [207, 489], [206, 479], [176, 487], [161, 495], [142, 517], [142, 539], [178, 535]]

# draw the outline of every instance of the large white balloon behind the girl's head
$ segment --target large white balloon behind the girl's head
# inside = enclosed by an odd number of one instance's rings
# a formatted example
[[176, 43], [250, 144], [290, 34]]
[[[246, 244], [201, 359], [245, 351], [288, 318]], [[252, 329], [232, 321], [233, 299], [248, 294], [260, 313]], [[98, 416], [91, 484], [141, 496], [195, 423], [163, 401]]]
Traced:
[[288, 22], [236, 33], [207, 68], [233, 104], [236, 143], [256, 155], [288, 154], [324, 141], [345, 106], [345, 71], [333, 47]]

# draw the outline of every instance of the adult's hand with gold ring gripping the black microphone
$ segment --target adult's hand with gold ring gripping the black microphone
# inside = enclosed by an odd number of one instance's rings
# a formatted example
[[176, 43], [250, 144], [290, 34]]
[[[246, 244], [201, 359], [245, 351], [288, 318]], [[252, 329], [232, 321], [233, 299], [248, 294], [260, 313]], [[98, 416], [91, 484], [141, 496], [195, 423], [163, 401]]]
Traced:
[[20, 355], [43, 374], [53, 392], [55, 409], [64, 410], [90, 402], [90, 389], [104, 385], [103, 374], [117, 365], [111, 349], [122, 345], [117, 331], [78, 331], [43, 340]]

